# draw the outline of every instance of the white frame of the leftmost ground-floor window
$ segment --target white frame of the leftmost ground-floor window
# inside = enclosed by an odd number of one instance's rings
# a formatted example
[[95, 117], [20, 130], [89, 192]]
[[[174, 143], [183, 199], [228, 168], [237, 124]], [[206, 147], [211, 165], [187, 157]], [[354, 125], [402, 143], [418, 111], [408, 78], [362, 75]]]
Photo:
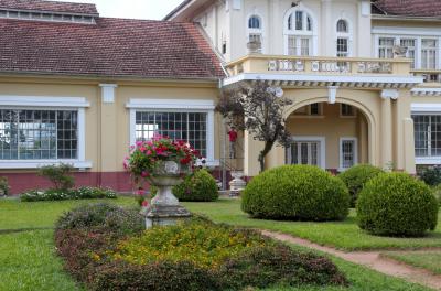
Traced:
[[44, 165], [66, 163], [77, 169], [89, 169], [86, 161], [86, 108], [90, 106], [84, 97], [47, 97], [1, 95], [0, 106], [4, 109], [22, 110], [73, 110], [78, 112], [78, 158], [45, 160], [0, 160], [0, 169], [37, 169]]

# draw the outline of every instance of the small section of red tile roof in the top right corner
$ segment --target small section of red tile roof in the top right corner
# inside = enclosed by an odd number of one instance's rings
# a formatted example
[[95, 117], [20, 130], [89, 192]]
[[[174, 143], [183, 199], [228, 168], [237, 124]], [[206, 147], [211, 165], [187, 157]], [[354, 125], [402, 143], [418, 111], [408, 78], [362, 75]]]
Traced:
[[376, 12], [404, 17], [440, 17], [441, 0], [377, 0]]

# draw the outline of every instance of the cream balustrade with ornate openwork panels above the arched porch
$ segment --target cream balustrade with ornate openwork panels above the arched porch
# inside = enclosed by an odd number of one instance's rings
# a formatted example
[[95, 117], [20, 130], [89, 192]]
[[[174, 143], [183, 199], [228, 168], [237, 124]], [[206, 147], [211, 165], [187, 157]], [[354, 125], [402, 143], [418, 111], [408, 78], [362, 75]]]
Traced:
[[281, 73], [281, 74], [396, 74], [410, 75], [407, 58], [359, 58], [247, 55], [227, 64], [228, 73]]

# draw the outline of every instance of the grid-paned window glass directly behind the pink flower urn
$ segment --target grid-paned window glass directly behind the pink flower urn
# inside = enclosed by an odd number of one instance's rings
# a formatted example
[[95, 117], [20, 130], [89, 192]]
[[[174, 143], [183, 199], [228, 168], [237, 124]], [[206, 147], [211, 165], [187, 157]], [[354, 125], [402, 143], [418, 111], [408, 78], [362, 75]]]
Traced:
[[207, 114], [137, 111], [136, 140], [150, 140], [154, 134], [185, 140], [207, 157]]

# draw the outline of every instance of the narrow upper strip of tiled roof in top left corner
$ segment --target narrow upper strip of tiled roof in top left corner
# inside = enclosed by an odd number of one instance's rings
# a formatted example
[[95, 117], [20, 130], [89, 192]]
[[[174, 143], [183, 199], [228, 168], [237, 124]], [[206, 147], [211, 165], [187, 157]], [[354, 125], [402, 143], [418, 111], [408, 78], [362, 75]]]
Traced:
[[98, 14], [95, 4], [42, 0], [0, 0], [0, 8], [75, 14]]

